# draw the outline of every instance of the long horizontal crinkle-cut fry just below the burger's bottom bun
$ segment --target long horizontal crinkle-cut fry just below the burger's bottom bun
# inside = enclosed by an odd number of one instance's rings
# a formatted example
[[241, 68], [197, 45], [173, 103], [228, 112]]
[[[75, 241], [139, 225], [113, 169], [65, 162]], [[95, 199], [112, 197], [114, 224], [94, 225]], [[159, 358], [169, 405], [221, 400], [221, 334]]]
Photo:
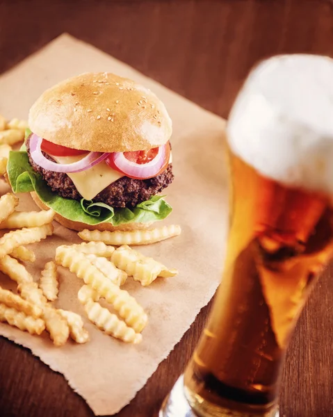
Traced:
[[79, 231], [82, 240], [104, 242], [106, 245], [149, 245], [161, 242], [181, 234], [181, 227], [177, 224], [170, 224], [159, 229], [132, 230], [132, 231], [99, 231], [84, 229]]

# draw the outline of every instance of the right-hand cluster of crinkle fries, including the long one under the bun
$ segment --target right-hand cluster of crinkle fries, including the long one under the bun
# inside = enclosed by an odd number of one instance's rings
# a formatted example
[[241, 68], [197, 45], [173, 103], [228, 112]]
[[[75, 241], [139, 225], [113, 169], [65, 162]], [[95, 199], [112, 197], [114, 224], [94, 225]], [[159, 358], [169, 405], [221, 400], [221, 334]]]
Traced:
[[[180, 231], [174, 225], [151, 231], [83, 230], [79, 236], [89, 243], [59, 246], [56, 263], [83, 279], [85, 285], [79, 290], [78, 297], [91, 322], [106, 334], [124, 342], [140, 343], [141, 332], [147, 325], [147, 314], [136, 299], [120, 286], [129, 276], [147, 286], [157, 277], [174, 277], [178, 272], [123, 244], [156, 243], [177, 236]], [[115, 249], [106, 243], [120, 247]], [[99, 304], [101, 298], [115, 313]]]

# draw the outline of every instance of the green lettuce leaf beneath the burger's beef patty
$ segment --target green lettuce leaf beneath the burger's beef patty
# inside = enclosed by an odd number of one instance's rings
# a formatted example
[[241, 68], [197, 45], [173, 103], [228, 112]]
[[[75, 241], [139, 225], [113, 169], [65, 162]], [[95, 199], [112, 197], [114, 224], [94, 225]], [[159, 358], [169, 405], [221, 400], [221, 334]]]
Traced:
[[[22, 148], [21, 148], [22, 149]], [[81, 202], [60, 197], [54, 193], [42, 176], [33, 170], [29, 157], [23, 148], [11, 151], [7, 164], [8, 178], [14, 193], [35, 191], [42, 202], [64, 218], [86, 224], [110, 222], [113, 226], [130, 222], [155, 222], [165, 219], [172, 211], [164, 196], [151, 197], [134, 208], [113, 208], [104, 203], [94, 203], [86, 199]]]

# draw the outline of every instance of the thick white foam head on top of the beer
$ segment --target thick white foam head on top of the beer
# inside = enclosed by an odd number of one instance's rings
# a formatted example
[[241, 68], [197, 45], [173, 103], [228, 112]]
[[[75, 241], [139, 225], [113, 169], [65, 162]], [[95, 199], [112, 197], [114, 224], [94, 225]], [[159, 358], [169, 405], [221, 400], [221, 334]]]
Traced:
[[227, 133], [233, 152], [264, 176], [333, 193], [333, 60], [263, 61], [238, 94]]

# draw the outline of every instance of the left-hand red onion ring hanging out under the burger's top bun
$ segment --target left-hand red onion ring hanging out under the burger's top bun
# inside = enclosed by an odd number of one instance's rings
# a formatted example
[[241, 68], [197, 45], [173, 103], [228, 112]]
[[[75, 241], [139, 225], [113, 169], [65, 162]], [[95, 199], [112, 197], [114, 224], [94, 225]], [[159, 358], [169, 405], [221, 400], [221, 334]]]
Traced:
[[30, 138], [31, 158], [33, 158], [33, 161], [37, 165], [40, 165], [40, 167], [44, 168], [44, 170], [53, 172], [86, 171], [94, 165], [97, 165], [97, 163], [104, 161], [104, 159], [108, 156], [107, 152], [104, 154], [101, 154], [100, 152], [90, 152], [80, 161], [74, 163], [56, 163], [53, 161], [49, 161], [49, 159], [45, 158], [45, 156], [42, 154], [42, 149], [40, 149], [40, 145], [42, 145], [42, 138], [33, 133], [33, 135], [31, 135]]

